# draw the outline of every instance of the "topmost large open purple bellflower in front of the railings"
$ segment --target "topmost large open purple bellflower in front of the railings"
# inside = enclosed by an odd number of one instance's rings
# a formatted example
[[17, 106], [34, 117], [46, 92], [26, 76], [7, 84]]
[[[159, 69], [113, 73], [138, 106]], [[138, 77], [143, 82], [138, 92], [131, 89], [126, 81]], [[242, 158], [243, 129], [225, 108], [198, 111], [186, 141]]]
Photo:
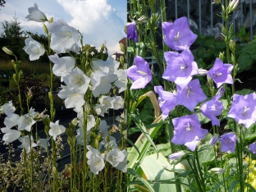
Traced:
[[190, 48], [190, 45], [197, 39], [197, 35], [190, 30], [190, 23], [185, 16], [174, 23], [163, 22], [162, 31], [165, 43], [175, 50]]

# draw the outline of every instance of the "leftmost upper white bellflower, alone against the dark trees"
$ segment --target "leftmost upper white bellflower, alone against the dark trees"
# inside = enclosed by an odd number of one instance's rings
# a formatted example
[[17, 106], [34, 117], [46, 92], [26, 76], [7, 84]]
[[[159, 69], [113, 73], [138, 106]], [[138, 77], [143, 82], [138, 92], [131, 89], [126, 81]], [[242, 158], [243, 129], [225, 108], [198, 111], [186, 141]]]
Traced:
[[45, 53], [41, 43], [35, 41], [31, 37], [25, 39], [25, 47], [23, 49], [25, 53], [30, 55], [30, 61], [39, 59], [39, 57]]

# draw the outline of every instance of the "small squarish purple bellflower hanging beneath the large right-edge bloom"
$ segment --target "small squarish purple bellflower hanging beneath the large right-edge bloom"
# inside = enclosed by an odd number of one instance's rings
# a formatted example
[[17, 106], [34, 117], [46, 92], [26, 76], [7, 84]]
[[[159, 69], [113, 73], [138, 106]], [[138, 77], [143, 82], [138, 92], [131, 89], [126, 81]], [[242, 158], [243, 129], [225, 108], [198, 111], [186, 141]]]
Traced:
[[234, 133], [226, 133], [222, 135], [220, 142], [222, 152], [231, 151], [232, 153], [235, 153], [236, 135]]

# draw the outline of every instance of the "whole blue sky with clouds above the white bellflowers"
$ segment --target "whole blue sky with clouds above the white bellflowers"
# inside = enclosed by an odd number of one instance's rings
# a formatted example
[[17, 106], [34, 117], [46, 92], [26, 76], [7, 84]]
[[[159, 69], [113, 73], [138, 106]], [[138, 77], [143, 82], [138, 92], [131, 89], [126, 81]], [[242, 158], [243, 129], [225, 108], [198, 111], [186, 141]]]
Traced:
[[[42, 23], [27, 21], [28, 8], [37, 3], [39, 10], [54, 21], [64, 19], [68, 25], [80, 30], [84, 43], [94, 44], [97, 48], [107, 44], [109, 53], [120, 53], [119, 40], [125, 37], [126, 0], [7, 0], [0, 7], [0, 22], [11, 21], [16, 14], [22, 30], [43, 34]], [[0, 27], [2, 32], [2, 25]]]

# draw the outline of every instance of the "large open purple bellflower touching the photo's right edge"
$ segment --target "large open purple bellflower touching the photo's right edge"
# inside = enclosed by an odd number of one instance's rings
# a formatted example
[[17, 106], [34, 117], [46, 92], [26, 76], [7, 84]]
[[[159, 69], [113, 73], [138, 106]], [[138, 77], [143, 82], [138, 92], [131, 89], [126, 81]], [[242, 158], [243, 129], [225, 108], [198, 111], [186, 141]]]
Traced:
[[236, 122], [249, 128], [255, 122], [255, 107], [256, 94], [247, 94], [245, 96], [234, 94], [233, 103], [227, 117], [234, 118]]

